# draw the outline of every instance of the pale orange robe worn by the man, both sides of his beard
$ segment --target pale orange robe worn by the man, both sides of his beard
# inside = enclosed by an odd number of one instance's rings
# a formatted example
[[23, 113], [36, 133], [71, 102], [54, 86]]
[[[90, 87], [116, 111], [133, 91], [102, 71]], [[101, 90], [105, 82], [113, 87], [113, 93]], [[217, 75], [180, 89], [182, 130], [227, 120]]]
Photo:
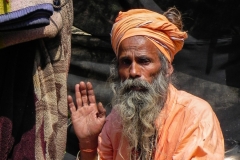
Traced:
[[[160, 126], [155, 160], [223, 160], [224, 139], [219, 121], [204, 100], [169, 86], [167, 101], [156, 120]], [[122, 137], [120, 117], [108, 115], [99, 135], [101, 160], [128, 160], [128, 142]]]

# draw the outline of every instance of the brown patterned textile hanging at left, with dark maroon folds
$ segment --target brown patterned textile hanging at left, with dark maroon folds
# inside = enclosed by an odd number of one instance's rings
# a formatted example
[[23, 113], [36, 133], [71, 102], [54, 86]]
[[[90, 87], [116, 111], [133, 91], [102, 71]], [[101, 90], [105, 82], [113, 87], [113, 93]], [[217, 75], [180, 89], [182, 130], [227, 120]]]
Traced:
[[[0, 160], [60, 160], [64, 156], [73, 23], [72, 1], [66, 2], [61, 0], [64, 5], [54, 11], [62, 27], [52, 17], [57, 30], [47, 26], [13, 32], [17, 40], [8, 37], [14, 43], [0, 49]], [[42, 35], [53, 33], [45, 38], [36, 36], [37, 30]], [[1, 40], [2, 35], [7, 34], [1, 32]]]

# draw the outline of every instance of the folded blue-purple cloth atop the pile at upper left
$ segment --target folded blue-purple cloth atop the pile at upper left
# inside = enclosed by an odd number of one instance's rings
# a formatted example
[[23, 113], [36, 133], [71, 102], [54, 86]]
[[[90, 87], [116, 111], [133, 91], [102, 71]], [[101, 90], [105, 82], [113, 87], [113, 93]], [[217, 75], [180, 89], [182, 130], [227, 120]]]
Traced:
[[49, 25], [53, 6], [50, 3], [29, 6], [0, 15], [0, 31], [37, 28]]

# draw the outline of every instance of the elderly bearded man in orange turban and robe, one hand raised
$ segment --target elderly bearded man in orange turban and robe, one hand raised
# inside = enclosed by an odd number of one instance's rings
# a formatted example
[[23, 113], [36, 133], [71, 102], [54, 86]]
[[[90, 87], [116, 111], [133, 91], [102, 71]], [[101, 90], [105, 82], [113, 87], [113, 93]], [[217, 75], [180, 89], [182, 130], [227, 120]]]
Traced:
[[175, 8], [163, 15], [145, 9], [119, 13], [111, 33], [117, 57], [111, 113], [105, 119], [90, 82], [75, 86], [77, 107], [68, 97], [79, 159], [224, 158], [211, 106], [171, 84], [171, 62], [187, 38], [181, 30]]

